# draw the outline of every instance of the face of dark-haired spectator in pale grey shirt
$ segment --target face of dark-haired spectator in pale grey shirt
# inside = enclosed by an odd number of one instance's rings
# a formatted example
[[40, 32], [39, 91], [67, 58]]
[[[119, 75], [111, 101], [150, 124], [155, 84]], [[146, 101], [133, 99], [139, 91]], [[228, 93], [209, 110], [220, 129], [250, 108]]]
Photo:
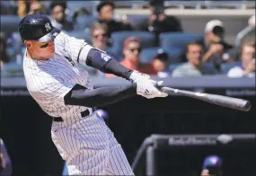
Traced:
[[199, 45], [190, 45], [187, 52], [187, 58], [194, 66], [199, 66], [202, 57], [202, 47]]

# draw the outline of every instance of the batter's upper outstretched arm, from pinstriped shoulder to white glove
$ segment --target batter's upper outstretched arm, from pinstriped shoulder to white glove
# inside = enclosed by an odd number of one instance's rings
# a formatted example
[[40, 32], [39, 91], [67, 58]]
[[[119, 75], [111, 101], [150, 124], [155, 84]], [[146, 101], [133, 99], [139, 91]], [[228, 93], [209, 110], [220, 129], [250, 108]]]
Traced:
[[149, 75], [120, 65], [114, 57], [109, 56], [105, 51], [94, 48], [84, 40], [70, 37], [64, 32], [57, 36], [55, 43], [57, 52], [71, 58], [75, 63], [92, 66], [103, 73], [117, 75], [135, 83], [142, 79], [150, 79]]

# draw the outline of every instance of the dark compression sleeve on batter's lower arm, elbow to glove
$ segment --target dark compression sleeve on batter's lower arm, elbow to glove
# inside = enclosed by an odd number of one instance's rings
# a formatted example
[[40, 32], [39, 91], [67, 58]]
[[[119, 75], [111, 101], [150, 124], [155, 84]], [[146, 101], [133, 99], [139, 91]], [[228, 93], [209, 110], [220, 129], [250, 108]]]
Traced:
[[137, 84], [101, 87], [93, 90], [75, 84], [71, 91], [66, 93], [64, 101], [66, 105], [92, 108], [121, 101], [136, 94]]

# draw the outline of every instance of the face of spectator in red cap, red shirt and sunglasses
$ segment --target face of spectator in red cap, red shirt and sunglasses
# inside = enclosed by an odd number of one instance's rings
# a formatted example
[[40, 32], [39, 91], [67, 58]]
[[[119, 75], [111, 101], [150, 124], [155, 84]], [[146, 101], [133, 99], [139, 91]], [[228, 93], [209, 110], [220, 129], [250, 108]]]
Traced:
[[137, 62], [139, 60], [140, 50], [140, 44], [137, 41], [132, 41], [128, 43], [128, 46], [124, 49], [124, 55], [126, 58]]

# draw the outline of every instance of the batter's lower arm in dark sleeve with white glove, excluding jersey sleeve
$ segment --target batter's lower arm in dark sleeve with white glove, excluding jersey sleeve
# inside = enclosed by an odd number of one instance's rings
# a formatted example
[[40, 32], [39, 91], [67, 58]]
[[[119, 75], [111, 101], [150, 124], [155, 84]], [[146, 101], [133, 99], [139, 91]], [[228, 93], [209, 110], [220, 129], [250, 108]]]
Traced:
[[88, 90], [82, 85], [75, 84], [70, 92], [67, 92], [64, 101], [66, 105], [80, 105], [86, 107], [97, 107], [124, 100], [136, 94], [147, 99], [165, 97], [166, 93], [155, 88], [152, 80], [144, 80], [129, 85], [112, 87], [101, 87]]

